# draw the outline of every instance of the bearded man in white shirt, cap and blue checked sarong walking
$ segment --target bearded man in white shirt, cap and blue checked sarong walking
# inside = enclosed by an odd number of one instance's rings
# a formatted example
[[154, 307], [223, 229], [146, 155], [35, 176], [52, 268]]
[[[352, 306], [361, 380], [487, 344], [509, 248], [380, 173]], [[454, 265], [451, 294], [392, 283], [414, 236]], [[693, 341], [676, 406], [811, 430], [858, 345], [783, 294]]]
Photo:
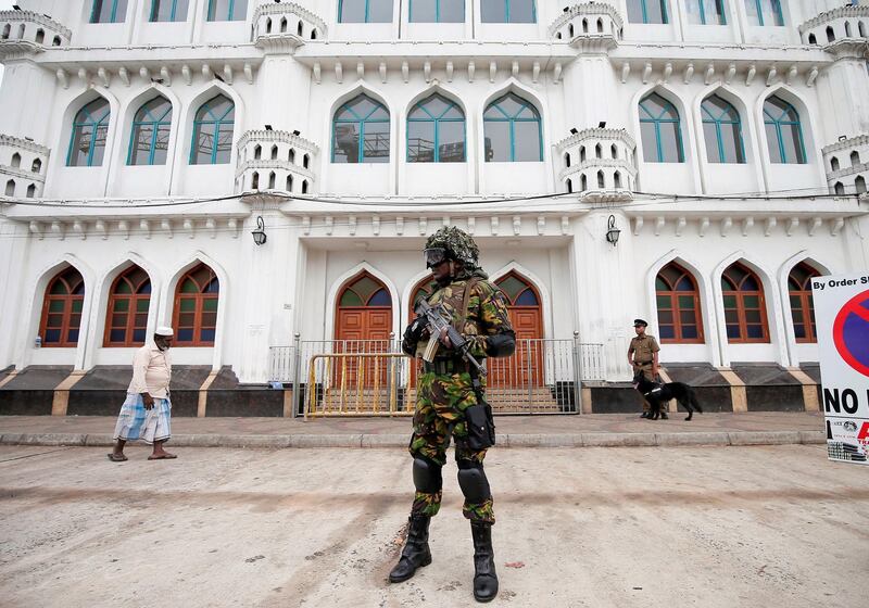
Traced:
[[147, 342], [133, 357], [133, 380], [127, 389], [127, 398], [117, 416], [114, 449], [109, 454], [109, 459], [113, 463], [126, 460], [124, 444], [137, 439], [153, 444], [153, 453], [148, 457], [149, 460], [176, 458], [175, 454], [163, 449], [163, 444], [172, 436], [169, 346], [173, 334], [171, 327], [156, 328], [153, 341]]

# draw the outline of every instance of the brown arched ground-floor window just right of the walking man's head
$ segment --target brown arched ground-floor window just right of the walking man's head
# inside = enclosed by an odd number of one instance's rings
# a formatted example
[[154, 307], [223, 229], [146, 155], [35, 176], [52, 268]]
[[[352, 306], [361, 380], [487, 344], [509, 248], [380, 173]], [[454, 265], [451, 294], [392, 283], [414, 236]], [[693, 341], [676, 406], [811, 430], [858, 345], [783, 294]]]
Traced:
[[175, 288], [173, 327], [176, 346], [213, 346], [221, 282], [214, 270], [198, 264]]

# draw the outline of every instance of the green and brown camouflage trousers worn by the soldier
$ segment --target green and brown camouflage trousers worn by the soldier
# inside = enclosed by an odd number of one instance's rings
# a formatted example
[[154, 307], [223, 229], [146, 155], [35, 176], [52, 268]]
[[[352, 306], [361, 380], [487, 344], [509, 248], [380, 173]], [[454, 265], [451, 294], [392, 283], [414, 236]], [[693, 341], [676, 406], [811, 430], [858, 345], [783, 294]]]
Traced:
[[[465, 410], [476, 404], [477, 395], [469, 373], [423, 373], [416, 395], [414, 434], [408, 447], [411, 454], [442, 467], [446, 464], [450, 439], [455, 438], [456, 463], [469, 460], [481, 465], [486, 449], [469, 449], [463, 443], [468, 434]], [[441, 491], [433, 494], [417, 491], [412, 512], [429, 517], [437, 515], [441, 508]], [[480, 504], [470, 504], [466, 499], [462, 514], [474, 521], [495, 521], [491, 496]]]

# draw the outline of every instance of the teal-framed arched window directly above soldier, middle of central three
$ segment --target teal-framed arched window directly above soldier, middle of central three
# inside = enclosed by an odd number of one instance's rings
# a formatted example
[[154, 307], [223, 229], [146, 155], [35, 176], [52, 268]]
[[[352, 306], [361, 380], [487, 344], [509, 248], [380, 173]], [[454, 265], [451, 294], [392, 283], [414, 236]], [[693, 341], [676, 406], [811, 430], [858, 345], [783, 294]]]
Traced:
[[407, 162], [465, 162], [465, 113], [454, 101], [434, 93], [411, 110]]

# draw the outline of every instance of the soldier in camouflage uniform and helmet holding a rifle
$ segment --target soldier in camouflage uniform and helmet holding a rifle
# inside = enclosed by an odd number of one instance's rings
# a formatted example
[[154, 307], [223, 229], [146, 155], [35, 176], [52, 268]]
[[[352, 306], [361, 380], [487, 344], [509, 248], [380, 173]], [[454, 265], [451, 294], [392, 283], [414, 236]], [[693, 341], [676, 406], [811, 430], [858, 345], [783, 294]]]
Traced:
[[[432, 306], [442, 304], [452, 315], [453, 327], [470, 343], [468, 352], [477, 360], [512, 355], [516, 339], [507, 302], [479, 268], [479, 251], [474, 240], [455, 227], [444, 227], [428, 239], [425, 255], [426, 266], [431, 268], [436, 280], [427, 301]], [[467, 316], [462, 319], [465, 301]], [[404, 332], [402, 350], [417, 356], [428, 339], [425, 320], [415, 319]], [[482, 396], [481, 389], [475, 390], [475, 380], [481, 387], [484, 378], [479, 378], [473, 366], [452, 347], [445, 332], [440, 335], [434, 360], [426, 362], [424, 366], [410, 444], [416, 494], [411, 508], [407, 543], [389, 580], [393, 583], [406, 581], [417, 568], [431, 563], [428, 525], [441, 506], [441, 468], [446, 464], [446, 448], [452, 436], [456, 444], [458, 484], [465, 495], [462, 510], [470, 520], [474, 539], [474, 596], [479, 601], [489, 601], [498, 594], [491, 532], [495, 516], [482, 466], [486, 448], [475, 449], [468, 445], [465, 415]]]

